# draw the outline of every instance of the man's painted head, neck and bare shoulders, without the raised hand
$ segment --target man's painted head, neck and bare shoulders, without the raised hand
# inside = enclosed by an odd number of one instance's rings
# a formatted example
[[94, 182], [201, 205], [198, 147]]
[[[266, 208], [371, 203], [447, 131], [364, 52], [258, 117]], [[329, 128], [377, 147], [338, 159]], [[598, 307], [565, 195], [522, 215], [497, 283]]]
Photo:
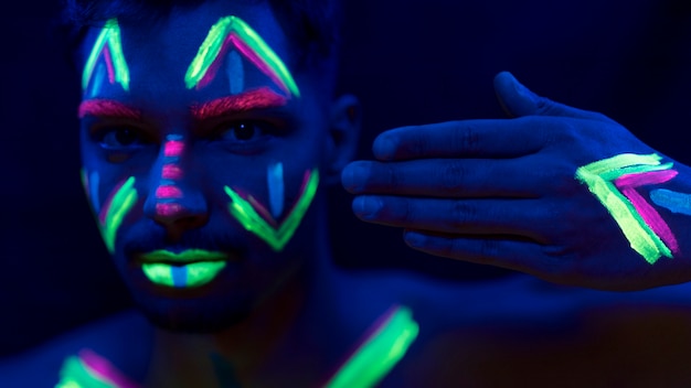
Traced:
[[[688, 324], [668, 325], [691, 319], [682, 288], [445, 284], [331, 263], [322, 187], [350, 159], [360, 106], [332, 96], [328, 4], [75, 9], [84, 187], [146, 320], [126, 313], [59, 338], [0, 369], [2, 385], [685, 382], [689, 347], [660, 341], [689, 338]], [[508, 75], [497, 89], [510, 108], [530, 104]]]

